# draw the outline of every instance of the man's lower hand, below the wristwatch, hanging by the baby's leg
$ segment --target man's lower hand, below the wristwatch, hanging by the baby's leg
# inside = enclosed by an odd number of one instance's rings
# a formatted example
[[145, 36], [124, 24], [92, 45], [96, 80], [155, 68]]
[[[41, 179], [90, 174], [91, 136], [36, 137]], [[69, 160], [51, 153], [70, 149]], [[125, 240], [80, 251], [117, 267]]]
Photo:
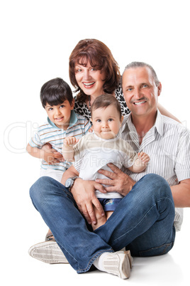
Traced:
[[94, 208], [97, 209], [101, 216], [105, 215], [101, 203], [98, 198], [96, 198], [95, 190], [106, 193], [101, 184], [98, 184], [95, 181], [84, 181], [82, 179], [76, 179], [71, 189], [79, 211], [84, 215], [89, 224], [96, 224], [97, 222]]

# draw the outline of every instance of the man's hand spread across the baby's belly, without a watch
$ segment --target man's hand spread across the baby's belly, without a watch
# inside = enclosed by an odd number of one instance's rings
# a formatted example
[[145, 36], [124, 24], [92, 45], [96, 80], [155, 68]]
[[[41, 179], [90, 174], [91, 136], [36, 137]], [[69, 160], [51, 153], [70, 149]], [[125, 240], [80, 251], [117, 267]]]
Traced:
[[110, 179], [96, 179], [97, 183], [111, 185], [106, 187], [106, 191], [117, 191], [122, 196], [126, 196], [135, 185], [135, 181], [127, 174], [123, 173], [117, 166], [109, 163], [108, 167], [113, 171], [99, 170], [100, 174], [104, 174]]

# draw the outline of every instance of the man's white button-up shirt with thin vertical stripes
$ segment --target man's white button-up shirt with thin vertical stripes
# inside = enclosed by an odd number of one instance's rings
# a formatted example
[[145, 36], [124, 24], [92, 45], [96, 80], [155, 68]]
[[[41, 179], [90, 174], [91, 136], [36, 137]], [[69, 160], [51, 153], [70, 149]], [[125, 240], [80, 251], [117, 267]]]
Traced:
[[[134, 181], [150, 173], [162, 176], [169, 186], [190, 179], [190, 132], [175, 120], [161, 115], [159, 110], [155, 125], [145, 134], [141, 144], [131, 115], [124, 117], [118, 136], [125, 139], [136, 152], [143, 151], [150, 156], [147, 168], [141, 173], [122, 168]], [[174, 226], [177, 231], [181, 228], [182, 220], [183, 208], [176, 208]]]

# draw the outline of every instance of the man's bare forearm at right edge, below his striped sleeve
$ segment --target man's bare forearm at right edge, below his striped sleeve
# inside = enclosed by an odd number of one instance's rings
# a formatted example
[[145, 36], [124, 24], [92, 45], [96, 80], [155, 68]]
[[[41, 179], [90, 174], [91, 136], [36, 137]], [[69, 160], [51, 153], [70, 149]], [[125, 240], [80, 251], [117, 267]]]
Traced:
[[171, 186], [171, 190], [176, 208], [190, 207], [190, 179], [180, 181], [179, 184]]

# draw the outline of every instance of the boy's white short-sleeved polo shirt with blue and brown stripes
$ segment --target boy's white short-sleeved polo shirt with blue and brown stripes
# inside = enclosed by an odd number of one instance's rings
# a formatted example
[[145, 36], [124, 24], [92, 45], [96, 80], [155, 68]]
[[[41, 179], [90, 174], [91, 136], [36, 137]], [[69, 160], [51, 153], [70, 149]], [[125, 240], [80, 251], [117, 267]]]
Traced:
[[[56, 149], [58, 152], [62, 153], [63, 139], [65, 137], [74, 136], [77, 139], [80, 139], [84, 136], [89, 128], [91, 123], [89, 120], [86, 120], [82, 115], [77, 115], [72, 110], [71, 117], [69, 120], [69, 127], [64, 130], [58, 128], [50, 119], [47, 117], [47, 122], [38, 127], [38, 131], [35, 132], [34, 136], [30, 139], [30, 146], [37, 147], [41, 149], [44, 144], [50, 143], [53, 149]], [[42, 169], [54, 169], [60, 171], [66, 171], [69, 168], [70, 164], [67, 161], [60, 162], [59, 164], [49, 165], [46, 161], [42, 161]]]

